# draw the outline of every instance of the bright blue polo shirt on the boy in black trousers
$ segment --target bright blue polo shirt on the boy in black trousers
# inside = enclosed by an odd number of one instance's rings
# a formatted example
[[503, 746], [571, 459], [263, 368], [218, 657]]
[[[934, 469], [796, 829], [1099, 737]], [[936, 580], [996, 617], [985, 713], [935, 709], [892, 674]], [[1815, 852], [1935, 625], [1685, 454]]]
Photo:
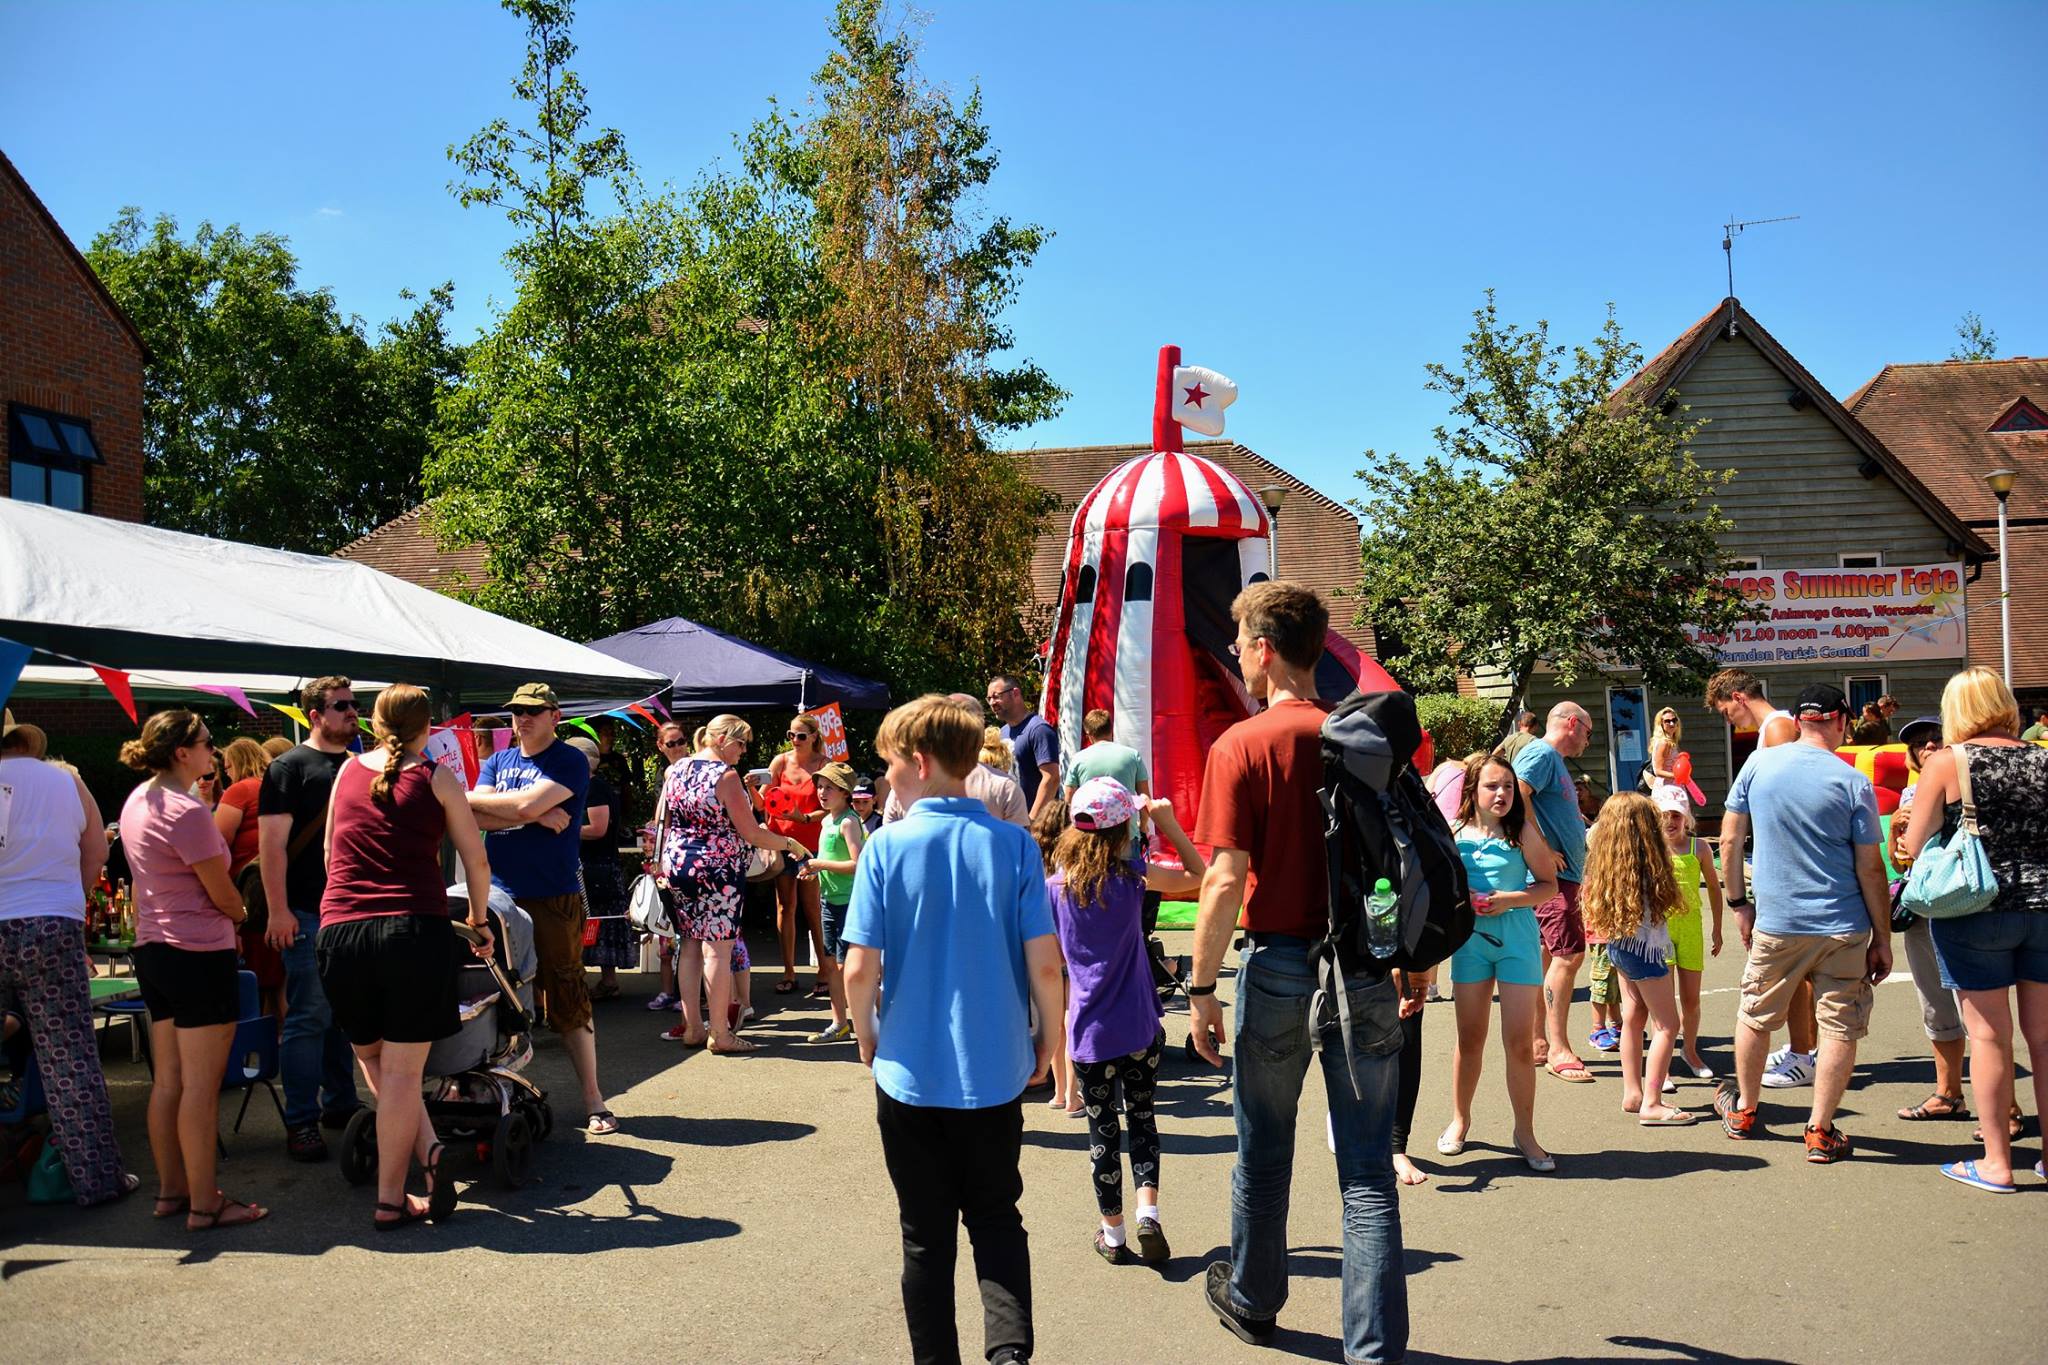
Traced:
[[1014, 1101], [1036, 1064], [1024, 943], [1051, 933], [1044, 862], [1022, 827], [965, 796], [885, 825], [842, 931], [883, 954], [874, 1085], [930, 1109]]

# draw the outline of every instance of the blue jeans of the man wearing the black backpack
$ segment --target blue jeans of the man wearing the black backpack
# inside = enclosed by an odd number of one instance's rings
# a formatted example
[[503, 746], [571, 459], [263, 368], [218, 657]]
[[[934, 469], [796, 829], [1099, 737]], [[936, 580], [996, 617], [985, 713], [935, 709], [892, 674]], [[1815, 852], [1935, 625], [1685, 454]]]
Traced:
[[[1343, 1359], [1354, 1365], [1407, 1355], [1407, 1267], [1395, 1195], [1393, 1124], [1401, 1081], [1401, 1019], [1393, 978], [1348, 982], [1352, 1060], [1331, 1005], [1323, 1040], [1323, 1091], [1337, 1134], [1343, 1193]], [[1309, 1001], [1315, 968], [1307, 943], [1247, 945], [1237, 970], [1237, 1166], [1231, 1171], [1231, 1304], [1276, 1318], [1286, 1304], [1286, 1214], [1294, 1179], [1294, 1111], [1313, 1052]]]

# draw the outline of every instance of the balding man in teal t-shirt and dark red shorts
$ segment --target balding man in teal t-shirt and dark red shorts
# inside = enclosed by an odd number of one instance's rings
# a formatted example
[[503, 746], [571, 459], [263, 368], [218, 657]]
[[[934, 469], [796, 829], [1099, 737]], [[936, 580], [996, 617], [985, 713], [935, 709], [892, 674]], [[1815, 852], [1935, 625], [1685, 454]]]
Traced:
[[1585, 921], [1579, 917], [1579, 882], [1585, 878], [1585, 817], [1579, 814], [1579, 788], [1565, 759], [1585, 753], [1593, 737], [1593, 718], [1577, 702], [1550, 708], [1542, 739], [1532, 739], [1516, 753], [1516, 780], [1522, 802], [1536, 817], [1544, 843], [1556, 853], [1556, 894], [1536, 907], [1536, 931], [1542, 935], [1542, 1019], [1536, 1031], [1536, 1062], [1559, 1081], [1591, 1081], [1593, 1072], [1571, 1050], [1571, 993], [1579, 984], [1579, 964], [1585, 962]]

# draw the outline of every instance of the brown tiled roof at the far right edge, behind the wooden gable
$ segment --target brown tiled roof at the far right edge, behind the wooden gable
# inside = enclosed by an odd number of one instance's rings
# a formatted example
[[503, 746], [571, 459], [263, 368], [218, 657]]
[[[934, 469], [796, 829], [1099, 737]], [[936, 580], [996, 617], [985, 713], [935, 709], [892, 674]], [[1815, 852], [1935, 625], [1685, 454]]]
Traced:
[[1886, 364], [1849, 395], [1849, 411], [1956, 516], [1995, 526], [1999, 499], [1985, 487], [1993, 469], [2019, 471], [2007, 516], [2048, 516], [2048, 432], [1991, 430], [2019, 399], [2048, 409], [2048, 360]]

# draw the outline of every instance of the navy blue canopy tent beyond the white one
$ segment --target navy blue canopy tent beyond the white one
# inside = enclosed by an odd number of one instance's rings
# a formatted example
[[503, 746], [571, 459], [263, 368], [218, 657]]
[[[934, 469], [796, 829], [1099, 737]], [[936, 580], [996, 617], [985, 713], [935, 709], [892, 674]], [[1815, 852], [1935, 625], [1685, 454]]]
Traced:
[[805, 710], [838, 702], [848, 710], [887, 710], [889, 688], [854, 673], [827, 669], [737, 634], [700, 626], [682, 616], [635, 626], [590, 649], [625, 659], [672, 679], [668, 704], [676, 710]]

